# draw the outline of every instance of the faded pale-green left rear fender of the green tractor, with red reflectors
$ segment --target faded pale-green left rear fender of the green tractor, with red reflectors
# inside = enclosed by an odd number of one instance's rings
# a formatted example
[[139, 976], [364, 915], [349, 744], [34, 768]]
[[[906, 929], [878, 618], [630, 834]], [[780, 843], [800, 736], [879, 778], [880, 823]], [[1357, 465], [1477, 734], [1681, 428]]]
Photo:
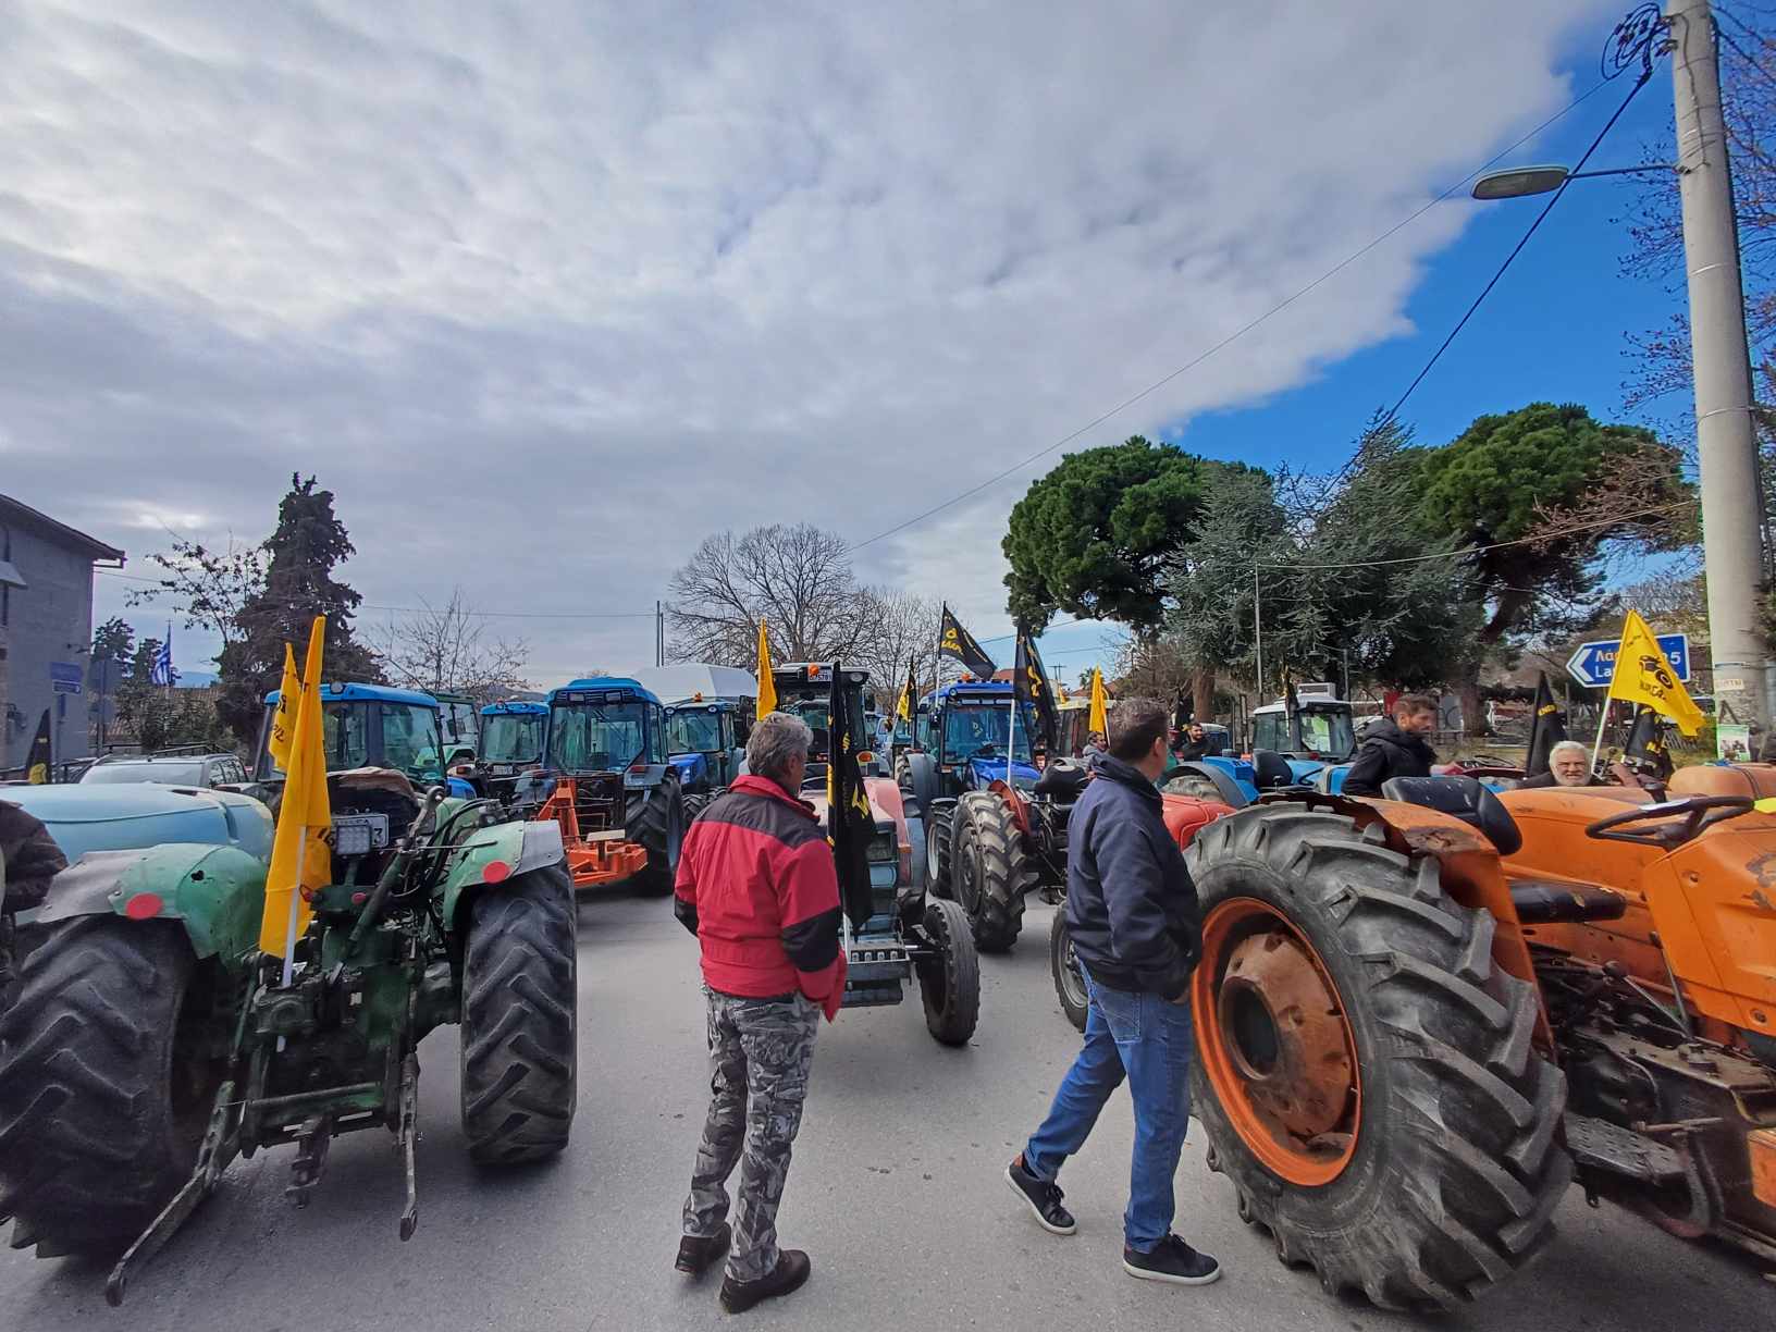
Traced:
[[55, 876], [36, 924], [99, 915], [178, 920], [197, 957], [234, 959], [259, 947], [265, 870], [240, 847], [199, 842], [89, 851]]

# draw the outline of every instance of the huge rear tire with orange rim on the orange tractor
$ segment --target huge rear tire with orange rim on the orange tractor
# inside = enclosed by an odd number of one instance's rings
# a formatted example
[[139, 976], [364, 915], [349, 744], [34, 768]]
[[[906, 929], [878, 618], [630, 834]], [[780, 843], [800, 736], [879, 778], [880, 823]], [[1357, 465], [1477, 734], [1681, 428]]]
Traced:
[[1387, 1309], [1453, 1307], [1529, 1261], [1572, 1179], [1566, 1080], [1494, 918], [1380, 829], [1259, 806], [1197, 833], [1193, 1108], [1284, 1263]]

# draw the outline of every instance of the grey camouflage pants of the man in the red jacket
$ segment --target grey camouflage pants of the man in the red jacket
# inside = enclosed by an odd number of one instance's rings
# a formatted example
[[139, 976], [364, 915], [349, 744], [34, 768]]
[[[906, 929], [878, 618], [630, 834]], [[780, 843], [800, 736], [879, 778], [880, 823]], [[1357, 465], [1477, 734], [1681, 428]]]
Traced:
[[778, 1261], [776, 1209], [808, 1096], [821, 1009], [799, 995], [746, 1000], [707, 986], [703, 995], [714, 1076], [691, 1197], [684, 1204], [684, 1233], [709, 1238], [721, 1229], [728, 1217], [728, 1176], [739, 1165], [728, 1275], [758, 1280]]

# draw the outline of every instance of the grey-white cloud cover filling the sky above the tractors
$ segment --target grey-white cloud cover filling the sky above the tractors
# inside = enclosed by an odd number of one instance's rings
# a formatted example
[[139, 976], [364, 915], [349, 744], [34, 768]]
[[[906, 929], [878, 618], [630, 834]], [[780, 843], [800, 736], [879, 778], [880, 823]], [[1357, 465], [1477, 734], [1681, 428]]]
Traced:
[[[0, 487], [144, 574], [169, 527], [258, 540], [313, 471], [369, 606], [460, 583], [536, 616], [540, 684], [634, 666], [650, 618], [593, 616], [650, 613], [702, 536], [867, 542], [1053, 444], [1565, 107], [1618, 7], [23, 0]], [[1341, 456], [1366, 410], [1250, 414], [1423, 357], [1414, 300], [1487, 211], [1439, 204], [1080, 446]], [[1058, 456], [860, 574], [1005, 632], [1005, 515]]]

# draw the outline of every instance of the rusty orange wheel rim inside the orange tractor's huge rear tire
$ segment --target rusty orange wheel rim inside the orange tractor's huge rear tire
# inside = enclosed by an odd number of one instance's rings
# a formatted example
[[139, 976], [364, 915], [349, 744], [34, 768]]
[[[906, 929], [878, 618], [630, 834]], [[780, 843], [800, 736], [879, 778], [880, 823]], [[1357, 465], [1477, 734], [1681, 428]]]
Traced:
[[1192, 979], [1202, 1071], [1247, 1149], [1293, 1185], [1328, 1185], [1357, 1154], [1362, 1078], [1337, 986], [1268, 902], [1231, 897], [1202, 922]]

